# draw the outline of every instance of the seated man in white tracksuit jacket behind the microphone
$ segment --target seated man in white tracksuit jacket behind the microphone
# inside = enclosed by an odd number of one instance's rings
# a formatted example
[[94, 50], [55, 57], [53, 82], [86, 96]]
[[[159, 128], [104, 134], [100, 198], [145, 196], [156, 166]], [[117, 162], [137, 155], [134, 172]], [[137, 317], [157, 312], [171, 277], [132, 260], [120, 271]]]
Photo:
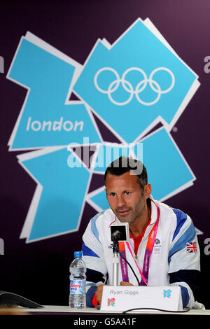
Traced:
[[[181, 286], [184, 307], [195, 307], [200, 281], [200, 249], [193, 222], [187, 214], [153, 200], [144, 165], [120, 157], [105, 175], [110, 209], [94, 216], [83, 235], [83, 260], [87, 265], [87, 307], [101, 303], [104, 284], [112, 285], [112, 223], [129, 223], [126, 258], [141, 285]], [[137, 286], [130, 267], [120, 285]]]

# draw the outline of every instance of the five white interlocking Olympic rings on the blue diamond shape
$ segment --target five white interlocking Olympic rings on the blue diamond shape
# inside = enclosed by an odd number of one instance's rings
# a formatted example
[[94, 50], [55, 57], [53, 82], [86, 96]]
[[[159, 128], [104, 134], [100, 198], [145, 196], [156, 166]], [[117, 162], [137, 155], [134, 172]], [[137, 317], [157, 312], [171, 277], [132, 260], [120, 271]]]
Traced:
[[[111, 71], [115, 75], [115, 80], [113, 80], [110, 83], [107, 90], [102, 89], [102, 87], [99, 87], [99, 84], [98, 84], [98, 77], [103, 71]], [[127, 73], [130, 73], [131, 71], [138, 71], [143, 76], [143, 80], [141, 80], [135, 88], [132, 86], [132, 84], [128, 80], [126, 80]], [[153, 79], [153, 76], [158, 71], [167, 71], [167, 73], [169, 73], [169, 75], [172, 78], [172, 83], [171, 83], [171, 85], [169, 85], [169, 87], [166, 90], [161, 90], [159, 83]], [[112, 97], [112, 93], [115, 92], [116, 90], [118, 90], [120, 83], [123, 86], [124, 90], [130, 94], [125, 102], [116, 102], [116, 100], [113, 99], [113, 97]], [[148, 84], [150, 85], [151, 90], [153, 90], [154, 92], [156, 92], [158, 94], [157, 97], [155, 98], [155, 100], [153, 100], [153, 102], [144, 102], [139, 97], [139, 94], [145, 90], [145, 88]], [[167, 94], [167, 92], [170, 92], [173, 89], [174, 84], [175, 84], [174, 74], [172, 73], [171, 70], [167, 69], [166, 67], [158, 67], [157, 69], [154, 69], [151, 72], [151, 75], [149, 76], [149, 78], [146, 76], [146, 73], [144, 72], [144, 70], [139, 69], [139, 67], [131, 67], [130, 69], [127, 69], [123, 73], [122, 78], [120, 78], [118, 72], [115, 69], [112, 69], [111, 67], [103, 67], [102, 69], [99, 69], [99, 71], [97, 71], [97, 73], [94, 76], [94, 85], [97, 88], [97, 90], [99, 90], [99, 92], [102, 92], [103, 94], [108, 94], [109, 100], [113, 104], [120, 105], [120, 106], [130, 103], [134, 95], [136, 96], [137, 101], [139, 103], [146, 105], [146, 106], [154, 105], [154, 104], [158, 103], [162, 94]]]

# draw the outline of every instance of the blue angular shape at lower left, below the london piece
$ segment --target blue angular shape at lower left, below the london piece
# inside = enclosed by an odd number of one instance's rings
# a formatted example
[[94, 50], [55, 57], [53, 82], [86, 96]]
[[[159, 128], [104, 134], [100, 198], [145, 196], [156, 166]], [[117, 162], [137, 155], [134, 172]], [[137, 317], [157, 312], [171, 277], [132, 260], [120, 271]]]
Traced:
[[22, 161], [43, 186], [29, 241], [78, 228], [90, 173], [78, 160], [75, 160], [78, 166], [69, 168], [68, 154], [64, 148]]

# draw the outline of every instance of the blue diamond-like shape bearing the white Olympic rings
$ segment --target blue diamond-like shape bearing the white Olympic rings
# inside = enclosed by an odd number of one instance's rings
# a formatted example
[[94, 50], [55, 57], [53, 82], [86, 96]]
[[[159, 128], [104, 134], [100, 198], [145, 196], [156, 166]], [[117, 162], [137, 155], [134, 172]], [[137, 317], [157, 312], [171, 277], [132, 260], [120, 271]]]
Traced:
[[130, 143], [158, 116], [170, 123], [196, 79], [138, 20], [110, 50], [97, 42], [73, 90]]

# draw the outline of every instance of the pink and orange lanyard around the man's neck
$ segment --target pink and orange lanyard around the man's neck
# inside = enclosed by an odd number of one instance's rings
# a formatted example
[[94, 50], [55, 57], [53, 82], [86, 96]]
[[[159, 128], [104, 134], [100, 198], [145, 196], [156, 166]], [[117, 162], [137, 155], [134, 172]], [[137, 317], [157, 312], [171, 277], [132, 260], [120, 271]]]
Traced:
[[[153, 200], [151, 200], [153, 202]], [[153, 202], [155, 204], [155, 202]], [[139, 268], [139, 265], [137, 264], [137, 261], [134, 258], [134, 255], [132, 253], [132, 249], [130, 247], [130, 244], [128, 241], [126, 241], [126, 245], [128, 250], [130, 251], [132, 258], [134, 259], [135, 264], [137, 265], [137, 268], [139, 270], [139, 273], [141, 275], [141, 286], [146, 286], [147, 282], [148, 282], [148, 271], [149, 271], [149, 262], [150, 262], [150, 258], [151, 258], [151, 253], [153, 252], [153, 247], [155, 244], [155, 239], [157, 236], [157, 232], [158, 232], [158, 223], [159, 223], [159, 218], [160, 218], [160, 209], [158, 207], [157, 204], [155, 204], [156, 208], [157, 208], [157, 220], [155, 222], [155, 224], [153, 225], [153, 228], [148, 236], [148, 241], [146, 244], [146, 251], [144, 254], [144, 264], [143, 264], [143, 270], [141, 272], [141, 269]], [[125, 244], [123, 241], [119, 241], [119, 248], [120, 248], [120, 252], [123, 253], [123, 257], [126, 258], [125, 255]], [[127, 272], [127, 263], [125, 262], [125, 260], [120, 256], [120, 265], [121, 265], [121, 271], [122, 271], [122, 276], [123, 276], [123, 281], [125, 282], [129, 282], [128, 279], [128, 272]]]

